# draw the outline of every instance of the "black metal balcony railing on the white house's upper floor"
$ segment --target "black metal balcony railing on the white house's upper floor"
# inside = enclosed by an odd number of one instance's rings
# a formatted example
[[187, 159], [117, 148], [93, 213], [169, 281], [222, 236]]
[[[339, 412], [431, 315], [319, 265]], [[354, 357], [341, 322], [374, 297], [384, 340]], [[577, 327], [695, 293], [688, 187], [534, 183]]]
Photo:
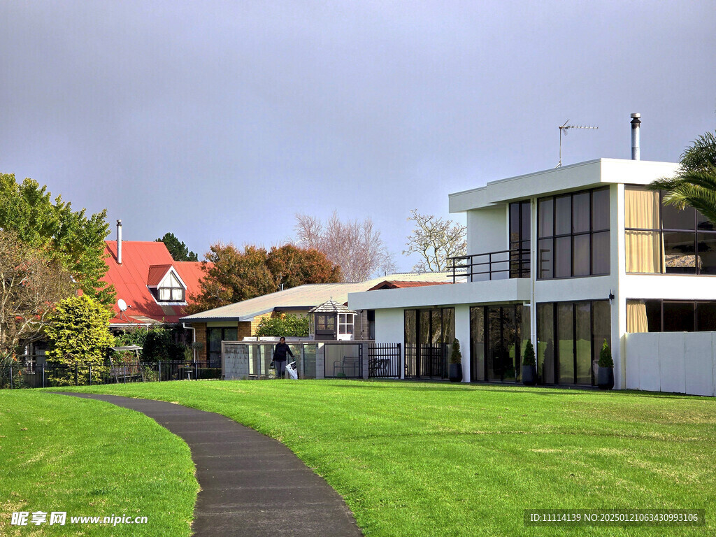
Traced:
[[514, 248], [469, 256], [451, 257], [448, 270], [453, 272], [453, 284], [459, 278], [468, 281], [506, 280], [530, 277], [529, 248]]

